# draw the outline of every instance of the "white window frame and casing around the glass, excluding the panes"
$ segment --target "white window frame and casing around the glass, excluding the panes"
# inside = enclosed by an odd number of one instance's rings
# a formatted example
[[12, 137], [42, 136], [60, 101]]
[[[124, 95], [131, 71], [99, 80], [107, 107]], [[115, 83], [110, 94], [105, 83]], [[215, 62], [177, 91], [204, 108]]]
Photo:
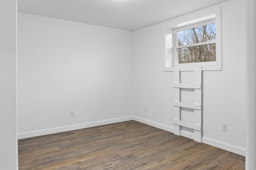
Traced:
[[[180, 63], [177, 64], [175, 53], [174, 29], [182, 30], [202, 23], [216, 23], [216, 61], [201, 63]], [[172, 26], [170, 26], [172, 25]], [[206, 24], [203, 24], [206, 25]], [[221, 33], [221, 8], [206, 8], [191, 14], [180, 16], [163, 23], [165, 32], [165, 55], [164, 55], [164, 72], [173, 71], [175, 66], [202, 66], [203, 71], [222, 70], [222, 33]], [[206, 43], [208, 44], [208, 43]]]

